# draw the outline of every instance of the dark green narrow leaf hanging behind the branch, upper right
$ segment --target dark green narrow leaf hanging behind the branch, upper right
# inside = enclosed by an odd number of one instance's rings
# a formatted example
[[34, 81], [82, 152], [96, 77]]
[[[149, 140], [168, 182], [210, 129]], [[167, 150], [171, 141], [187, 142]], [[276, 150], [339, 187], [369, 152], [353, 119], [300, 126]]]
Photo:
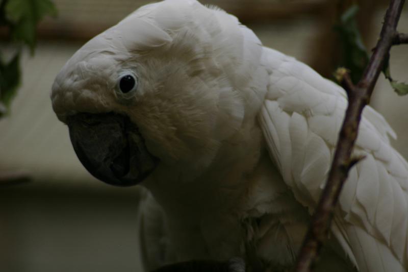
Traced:
[[339, 23], [335, 26], [335, 30], [340, 36], [343, 51], [340, 66], [351, 71], [350, 76], [353, 83], [357, 83], [361, 79], [369, 60], [367, 49], [355, 20], [358, 11], [357, 5], [351, 6], [343, 13]]

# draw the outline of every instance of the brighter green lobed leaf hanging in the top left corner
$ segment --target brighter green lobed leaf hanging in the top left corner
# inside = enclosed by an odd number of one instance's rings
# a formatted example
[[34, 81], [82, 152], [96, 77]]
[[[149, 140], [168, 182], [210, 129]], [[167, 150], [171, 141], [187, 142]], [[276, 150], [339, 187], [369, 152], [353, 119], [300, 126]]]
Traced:
[[12, 23], [11, 36], [29, 45], [32, 53], [36, 44], [37, 23], [45, 15], [57, 14], [50, 0], [8, 0], [5, 12]]

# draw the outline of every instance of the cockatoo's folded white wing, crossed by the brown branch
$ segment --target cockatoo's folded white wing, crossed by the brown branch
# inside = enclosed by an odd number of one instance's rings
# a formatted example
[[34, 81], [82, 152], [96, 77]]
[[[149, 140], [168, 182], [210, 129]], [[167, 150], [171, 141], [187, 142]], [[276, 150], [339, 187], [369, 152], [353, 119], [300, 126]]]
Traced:
[[[345, 91], [309, 66], [264, 48], [268, 93], [259, 114], [269, 153], [297, 201], [313, 212], [347, 107]], [[366, 107], [332, 231], [360, 271], [406, 271], [408, 164], [385, 119]], [[404, 268], [405, 267], [405, 268]]]

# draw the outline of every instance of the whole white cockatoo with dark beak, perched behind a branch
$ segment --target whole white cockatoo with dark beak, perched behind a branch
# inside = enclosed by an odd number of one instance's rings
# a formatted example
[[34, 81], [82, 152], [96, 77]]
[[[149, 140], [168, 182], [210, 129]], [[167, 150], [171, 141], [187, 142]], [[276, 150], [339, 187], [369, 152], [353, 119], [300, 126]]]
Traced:
[[[146, 269], [243, 258], [286, 271], [324, 186], [345, 91], [195, 0], [136, 10], [87, 42], [51, 94], [96, 178], [141, 183]], [[406, 271], [408, 164], [371, 107], [319, 271]], [[255, 268], [254, 268], [255, 267]]]

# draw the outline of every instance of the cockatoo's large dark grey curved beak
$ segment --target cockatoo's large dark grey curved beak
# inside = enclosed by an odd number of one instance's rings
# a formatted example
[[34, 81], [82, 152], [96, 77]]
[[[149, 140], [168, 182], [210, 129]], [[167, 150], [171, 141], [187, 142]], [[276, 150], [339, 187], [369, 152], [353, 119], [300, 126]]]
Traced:
[[81, 163], [103, 182], [135, 185], [158, 164], [147, 151], [138, 128], [125, 116], [78, 113], [67, 118], [67, 125]]

